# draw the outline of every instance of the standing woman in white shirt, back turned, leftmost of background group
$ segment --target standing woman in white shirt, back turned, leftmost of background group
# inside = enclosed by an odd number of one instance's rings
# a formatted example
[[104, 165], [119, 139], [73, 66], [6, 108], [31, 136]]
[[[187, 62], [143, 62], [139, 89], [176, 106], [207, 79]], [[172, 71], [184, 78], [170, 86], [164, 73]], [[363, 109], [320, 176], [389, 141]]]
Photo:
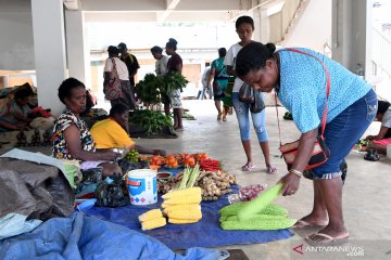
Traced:
[[117, 99], [110, 101], [111, 105], [115, 104], [123, 104], [125, 105], [129, 110], [135, 109], [136, 107], [136, 101], [135, 101], [135, 93], [133, 93], [130, 88], [130, 81], [129, 81], [129, 73], [126, 67], [126, 64], [119, 60], [118, 54], [119, 50], [118, 48], [114, 46], [110, 46], [108, 49], [109, 57], [105, 61], [104, 64], [104, 82], [103, 86], [106, 86], [106, 83], [113, 79], [113, 68], [115, 63], [115, 68], [118, 75], [118, 78], [121, 80], [121, 94]]

